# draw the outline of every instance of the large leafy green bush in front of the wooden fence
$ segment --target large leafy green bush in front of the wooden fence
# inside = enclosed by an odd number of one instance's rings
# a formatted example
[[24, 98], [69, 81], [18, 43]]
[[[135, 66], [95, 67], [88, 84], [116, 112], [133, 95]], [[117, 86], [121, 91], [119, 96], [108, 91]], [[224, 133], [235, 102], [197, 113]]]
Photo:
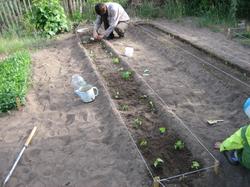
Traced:
[[28, 21], [45, 36], [68, 31], [67, 19], [59, 0], [34, 0]]

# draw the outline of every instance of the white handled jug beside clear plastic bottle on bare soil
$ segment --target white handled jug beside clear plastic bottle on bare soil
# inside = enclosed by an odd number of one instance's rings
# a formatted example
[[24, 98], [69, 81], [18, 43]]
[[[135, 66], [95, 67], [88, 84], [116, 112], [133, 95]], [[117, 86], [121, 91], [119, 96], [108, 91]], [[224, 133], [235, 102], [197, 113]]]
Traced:
[[84, 103], [89, 103], [95, 100], [99, 91], [94, 86], [86, 85], [75, 90], [75, 94], [78, 95]]

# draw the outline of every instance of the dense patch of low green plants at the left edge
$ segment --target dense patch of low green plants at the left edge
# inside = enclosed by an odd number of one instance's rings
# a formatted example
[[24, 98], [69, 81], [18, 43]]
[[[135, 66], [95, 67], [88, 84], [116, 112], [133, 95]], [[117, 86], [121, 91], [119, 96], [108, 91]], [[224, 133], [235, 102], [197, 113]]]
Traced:
[[25, 104], [31, 59], [28, 52], [18, 52], [0, 62], [0, 112]]

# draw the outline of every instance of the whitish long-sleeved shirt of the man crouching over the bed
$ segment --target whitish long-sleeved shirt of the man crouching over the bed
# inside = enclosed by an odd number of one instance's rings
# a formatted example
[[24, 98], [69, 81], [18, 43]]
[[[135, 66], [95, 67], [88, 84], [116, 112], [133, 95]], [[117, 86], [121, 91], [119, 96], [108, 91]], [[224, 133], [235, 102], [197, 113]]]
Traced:
[[[108, 21], [109, 28], [104, 32], [104, 35], [108, 37], [114, 28], [118, 25], [120, 21], [129, 21], [129, 16], [124, 10], [124, 8], [118, 3], [105, 3], [108, 10]], [[94, 29], [97, 31], [101, 27], [101, 16], [97, 15]]]

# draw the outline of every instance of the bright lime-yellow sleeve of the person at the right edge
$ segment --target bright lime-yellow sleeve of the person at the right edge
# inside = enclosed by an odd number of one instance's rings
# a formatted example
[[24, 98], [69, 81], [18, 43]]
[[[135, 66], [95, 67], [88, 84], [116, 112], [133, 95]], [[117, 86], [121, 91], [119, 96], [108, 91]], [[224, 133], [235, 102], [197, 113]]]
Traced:
[[229, 138], [227, 138], [222, 142], [222, 144], [220, 145], [220, 152], [242, 149], [242, 148], [243, 148], [243, 143], [241, 138], [241, 129], [239, 129], [233, 135], [231, 135]]

